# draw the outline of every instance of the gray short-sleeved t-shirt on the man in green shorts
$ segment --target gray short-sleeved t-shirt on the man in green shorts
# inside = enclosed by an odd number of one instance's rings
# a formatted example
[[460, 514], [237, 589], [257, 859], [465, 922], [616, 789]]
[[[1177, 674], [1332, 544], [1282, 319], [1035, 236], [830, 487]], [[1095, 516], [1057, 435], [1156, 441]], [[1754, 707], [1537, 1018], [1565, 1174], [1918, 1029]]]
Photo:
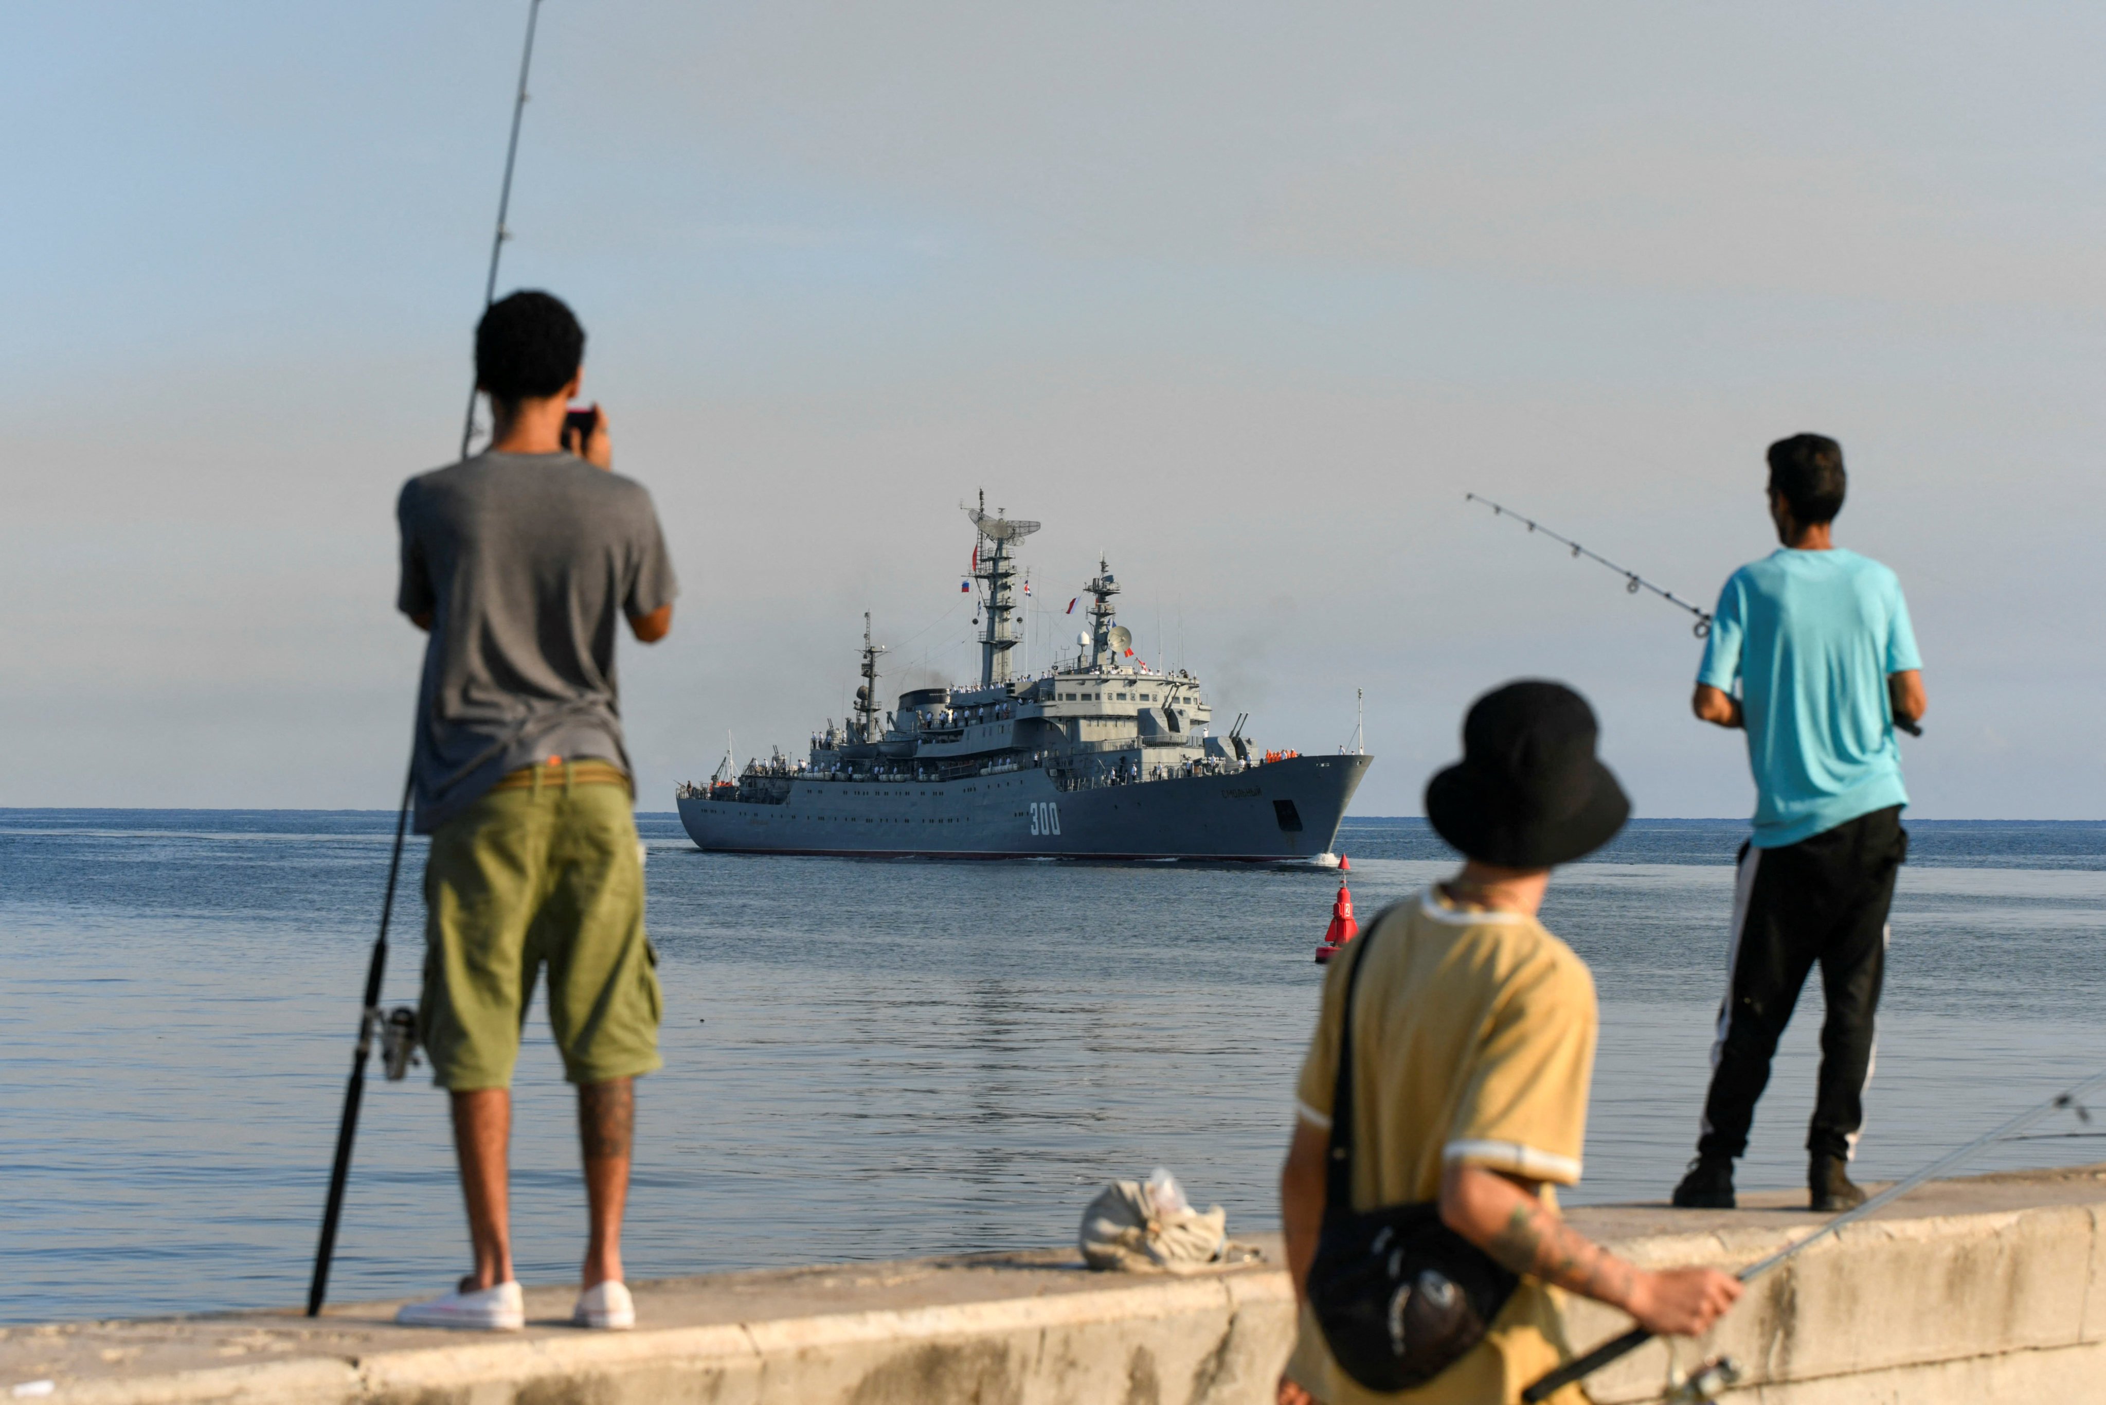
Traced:
[[545, 756], [621, 746], [615, 634], [678, 586], [651, 495], [571, 453], [482, 453], [402, 484], [406, 615], [432, 613], [417, 691], [417, 832]]

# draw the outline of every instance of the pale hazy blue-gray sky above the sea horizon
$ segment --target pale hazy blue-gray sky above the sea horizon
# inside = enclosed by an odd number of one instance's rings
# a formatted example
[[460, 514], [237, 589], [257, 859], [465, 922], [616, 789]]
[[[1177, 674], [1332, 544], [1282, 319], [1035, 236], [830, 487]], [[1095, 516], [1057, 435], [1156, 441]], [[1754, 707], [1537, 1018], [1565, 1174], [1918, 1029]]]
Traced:
[[[1462, 495], [1708, 602], [1822, 430], [1919, 813], [2100, 815], [2106, 15], [1451, 8], [548, 0], [501, 282], [577, 305], [684, 581], [644, 805], [840, 716], [863, 609], [889, 687], [969, 668], [986, 487], [1264, 744], [1365, 687], [1360, 813], [1548, 674], [1641, 813], [1740, 815], [1681, 617]], [[0, 805], [392, 803], [522, 17], [11, 8]]]

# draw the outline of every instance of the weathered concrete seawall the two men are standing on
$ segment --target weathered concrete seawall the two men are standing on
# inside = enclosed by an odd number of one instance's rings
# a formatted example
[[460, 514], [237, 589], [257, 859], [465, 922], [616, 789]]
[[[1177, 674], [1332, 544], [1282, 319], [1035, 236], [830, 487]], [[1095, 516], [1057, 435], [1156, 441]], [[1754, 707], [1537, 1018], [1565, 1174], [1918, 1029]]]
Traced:
[[[1573, 1222], [1641, 1264], [1748, 1264], [1807, 1234], [1803, 1194], [1740, 1211], [1598, 1207]], [[1080, 1205], [1078, 1205], [1080, 1213]], [[1746, 1371], [1765, 1405], [2106, 1399], [2106, 1167], [1940, 1182], [1756, 1285], [1683, 1365]], [[1293, 1298], [1268, 1262], [1190, 1279], [1091, 1274], [1072, 1253], [718, 1274], [636, 1285], [642, 1327], [562, 1325], [533, 1289], [512, 1335], [394, 1327], [396, 1304], [0, 1329], [0, 1390], [110, 1405], [1259, 1405]], [[1575, 1304], [1571, 1338], [1628, 1321]], [[1594, 1378], [1657, 1399], [1668, 1348]]]

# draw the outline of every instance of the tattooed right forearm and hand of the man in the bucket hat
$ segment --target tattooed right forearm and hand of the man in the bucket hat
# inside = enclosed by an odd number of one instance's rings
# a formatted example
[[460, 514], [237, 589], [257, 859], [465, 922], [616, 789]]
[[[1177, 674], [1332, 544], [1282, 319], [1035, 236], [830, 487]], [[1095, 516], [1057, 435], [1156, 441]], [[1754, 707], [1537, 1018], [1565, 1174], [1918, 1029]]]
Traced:
[[1539, 1184], [1451, 1161], [1441, 1220], [1512, 1272], [1607, 1302], [1660, 1335], [1693, 1338], [1740, 1298], [1740, 1283], [1716, 1268], [1626, 1264], [1552, 1213], [1535, 1194]]

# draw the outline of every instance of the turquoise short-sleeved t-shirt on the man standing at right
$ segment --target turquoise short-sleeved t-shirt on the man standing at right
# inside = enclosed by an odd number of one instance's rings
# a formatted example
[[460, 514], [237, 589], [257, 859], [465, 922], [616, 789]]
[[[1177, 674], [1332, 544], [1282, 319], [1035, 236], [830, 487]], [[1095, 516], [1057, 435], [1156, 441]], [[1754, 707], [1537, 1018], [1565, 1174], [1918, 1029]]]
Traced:
[[1740, 682], [1756, 849], [1908, 805], [1887, 674], [1910, 668], [1902, 581], [1870, 556], [1780, 548], [1733, 573], [1697, 682]]

